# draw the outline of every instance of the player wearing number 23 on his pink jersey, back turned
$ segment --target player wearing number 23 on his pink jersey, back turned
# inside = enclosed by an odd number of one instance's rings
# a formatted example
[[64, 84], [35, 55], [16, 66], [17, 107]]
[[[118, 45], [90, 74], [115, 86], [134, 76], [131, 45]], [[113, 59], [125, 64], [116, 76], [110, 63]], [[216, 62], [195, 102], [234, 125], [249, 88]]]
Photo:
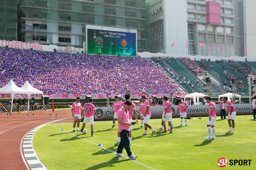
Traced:
[[95, 119], [97, 119], [97, 113], [96, 113], [96, 108], [95, 106], [92, 104], [93, 103], [93, 99], [89, 98], [88, 99], [88, 103], [84, 104], [83, 110], [84, 110], [84, 122], [81, 128], [81, 132], [83, 132], [85, 124], [89, 121], [90, 122], [90, 127], [91, 127], [91, 136], [95, 136], [93, 135], [93, 124], [94, 124], [94, 119], [93, 119], [93, 112], [95, 113]]

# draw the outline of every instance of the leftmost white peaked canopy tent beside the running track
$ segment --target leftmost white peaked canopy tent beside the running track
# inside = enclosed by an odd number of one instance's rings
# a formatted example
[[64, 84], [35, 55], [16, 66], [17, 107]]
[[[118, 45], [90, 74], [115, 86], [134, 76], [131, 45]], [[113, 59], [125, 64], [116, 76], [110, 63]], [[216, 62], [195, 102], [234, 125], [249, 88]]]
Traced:
[[[9, 83], [4, 86], [3, 88], [0, 88], [0, 94], [12, 94], [12, 105], [13, 105], [13, 95], [14, 94], [29, 94], [28, 91], [19, 88], [15, 83], [10, 80]], [[11, 112], [12, 112], [12, 107], [11, 107]]]

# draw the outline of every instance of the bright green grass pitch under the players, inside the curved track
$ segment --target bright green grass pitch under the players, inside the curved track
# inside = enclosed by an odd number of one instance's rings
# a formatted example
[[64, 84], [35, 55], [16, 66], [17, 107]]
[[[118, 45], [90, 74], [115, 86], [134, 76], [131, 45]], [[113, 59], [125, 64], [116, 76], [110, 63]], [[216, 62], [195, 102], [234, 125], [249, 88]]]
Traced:
[[[196, 119], [196, 120], [194, 120]], [[225, 170], [256, 169], [256, 121], [251, 115], [236, 116], [235, 133], [227, 133], [227, 120], [217, 117], [215, 140], [205, 141], [207, 136], [207, 117], [188, 120], [189, 126], [180, 125], [180, 119], [172, 119], [173, 133], [160, 133], [160, 119], [151, 119], [149, 124], [156, 130], [154, 136], [142, 136], [144, 128], [133, 126], [131, 151], [138, 156], [136, 161], [157, 170], [215, 170], [218, 159], [224, 157], [228, 164]], [[125, 170], [148, 169], [135, 161], [116, 158], [115, 154], [90, 142], [116, 152], [117, 123], [94, 122], [95, 137], [90, 137], [90, 125], [86, 125], [87, 134], [71, 133], [73, 123], [46, 125], [39, 129], [33, 138], [33, 147], [39, 159], [48, 170]], [[184, 125], [184, 121], [183, 121]], [[81, 126], [81, 124], [80, 124]], [[64, 129], [61, 131], [59, 129]], [[67, 132], [70, 133], [67, 133]], [[148, 131], [148, 134], [151, 131]], [[79, 139], [79, 138], [85, 139]], [[125, 149], [123, 154], [127, 156]], [[230, 159], [252, 159], [250, 166], [230, 166]]]

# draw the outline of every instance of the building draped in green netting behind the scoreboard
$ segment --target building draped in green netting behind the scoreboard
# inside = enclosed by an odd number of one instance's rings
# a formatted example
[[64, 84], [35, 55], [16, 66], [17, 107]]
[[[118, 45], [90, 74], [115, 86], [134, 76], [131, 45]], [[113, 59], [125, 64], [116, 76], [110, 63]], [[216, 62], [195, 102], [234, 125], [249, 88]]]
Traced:
[[146, 51], [145, 0], [20, 0], [19, 40], [82, 47], [86, 25], [137, 30], [137, 51]]

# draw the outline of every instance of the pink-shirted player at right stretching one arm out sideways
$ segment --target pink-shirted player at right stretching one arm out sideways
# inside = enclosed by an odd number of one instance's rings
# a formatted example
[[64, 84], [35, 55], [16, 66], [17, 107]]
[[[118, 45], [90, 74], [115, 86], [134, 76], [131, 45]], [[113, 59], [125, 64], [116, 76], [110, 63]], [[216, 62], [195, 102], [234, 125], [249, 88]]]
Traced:
[[[213, 101], [215, 103], [218, 103], [218, 104], [225, 104], [227, 106], [227, 110], [228, 110], [228, 118], [227, 118], [227, 122], [228, 122], [228, 125], [230, 127], [230, 130], [227, 130], [227, 132], [231, 132], [231, 133], [234, 133], [234, 130], [235, 130], [235, 117], [236, 117], [236, 109], [235, 107], [233, 106], [233, 104], [227, 100], [227, 97], [224, 97], [223, 98], [223, 102], [216, 102], [216, 101]], [[232, 123], [231, 123], [232, 122]]]

